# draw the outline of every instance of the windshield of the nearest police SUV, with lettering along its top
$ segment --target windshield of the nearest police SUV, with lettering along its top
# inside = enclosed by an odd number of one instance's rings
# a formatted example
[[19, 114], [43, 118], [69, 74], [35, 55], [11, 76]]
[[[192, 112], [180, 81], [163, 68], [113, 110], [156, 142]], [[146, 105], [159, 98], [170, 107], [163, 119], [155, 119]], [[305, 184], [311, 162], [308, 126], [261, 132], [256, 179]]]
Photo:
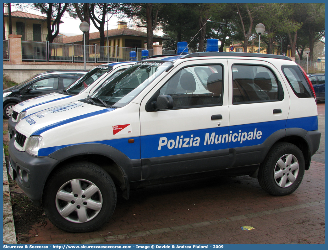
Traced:
[[123, 107], [136, 97], [149, 83], [165, 71], [172, 62], [137, 62], [113, 80], [107, 80], [91, 96], [114, 107]]

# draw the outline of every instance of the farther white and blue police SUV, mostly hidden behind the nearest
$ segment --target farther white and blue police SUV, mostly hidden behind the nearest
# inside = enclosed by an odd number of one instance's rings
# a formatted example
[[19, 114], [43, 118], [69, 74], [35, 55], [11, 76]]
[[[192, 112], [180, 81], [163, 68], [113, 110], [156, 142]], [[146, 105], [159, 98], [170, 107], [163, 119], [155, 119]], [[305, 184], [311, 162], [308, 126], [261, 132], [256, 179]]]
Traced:
[[16, 104], [12, 109], [12, 116], [8, 120], [9, 138], [11, 139], [15, 135], [17, 122], [25, 116], [60, 104], [84, 99], [99, 88], [103, 81], [113, 79], [134, 63], [112, 62], [99, 65], [60, 92], [31, 98]]

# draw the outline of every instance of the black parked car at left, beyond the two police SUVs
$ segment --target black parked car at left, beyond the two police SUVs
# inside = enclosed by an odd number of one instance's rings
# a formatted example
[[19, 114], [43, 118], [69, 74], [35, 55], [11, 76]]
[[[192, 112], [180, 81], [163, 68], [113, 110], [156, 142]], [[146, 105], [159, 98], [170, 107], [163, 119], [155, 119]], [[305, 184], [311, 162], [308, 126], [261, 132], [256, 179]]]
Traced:
[[[84, 75], [86, 72], [81, 72]], [[12, 108], [17, 103], [34, 97], [43, 96], [61, 90], [80, 76], [61, 74], [41, 74], [21, 84], [3, 90], [3, 116], [9, 119]]]

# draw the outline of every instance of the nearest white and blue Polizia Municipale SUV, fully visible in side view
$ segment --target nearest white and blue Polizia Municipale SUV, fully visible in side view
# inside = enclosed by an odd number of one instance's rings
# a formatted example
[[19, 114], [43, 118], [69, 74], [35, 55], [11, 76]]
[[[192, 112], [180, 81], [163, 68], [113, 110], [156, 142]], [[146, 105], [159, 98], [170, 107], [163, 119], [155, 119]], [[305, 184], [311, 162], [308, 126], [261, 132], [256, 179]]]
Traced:
[[10, 174], [59, 228], [92, 231], [116, 190], [251, 175], [297, 189], [320, 141], [310, 81], [289, 58], [202, 52], [137, 62], [89, 98], [25, 116]]

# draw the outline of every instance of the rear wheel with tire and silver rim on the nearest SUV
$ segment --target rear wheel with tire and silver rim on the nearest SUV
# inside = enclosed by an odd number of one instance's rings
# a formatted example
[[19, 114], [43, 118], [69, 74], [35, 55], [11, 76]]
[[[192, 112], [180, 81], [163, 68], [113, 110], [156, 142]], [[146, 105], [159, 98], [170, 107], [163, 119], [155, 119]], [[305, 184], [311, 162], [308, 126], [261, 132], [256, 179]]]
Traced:
[[258, 182], [269, 194], [291, 194], [300, 185], [305, 171], [304, 156], [291, 143], [273, 146], [258, 170]]

